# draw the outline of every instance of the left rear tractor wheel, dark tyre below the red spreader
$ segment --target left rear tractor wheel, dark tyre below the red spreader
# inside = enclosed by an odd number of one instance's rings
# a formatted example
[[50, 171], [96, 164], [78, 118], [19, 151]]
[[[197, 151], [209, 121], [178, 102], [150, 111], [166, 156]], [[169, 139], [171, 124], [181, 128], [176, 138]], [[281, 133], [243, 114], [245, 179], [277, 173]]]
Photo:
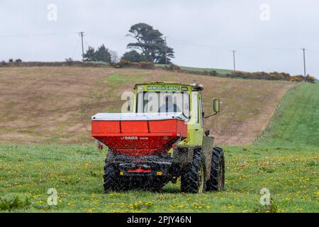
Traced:
[[123, 191], [121, 182], [118, 180], [119, 172], [113, 165], [106, 163], [104, 167], [104, 192]]

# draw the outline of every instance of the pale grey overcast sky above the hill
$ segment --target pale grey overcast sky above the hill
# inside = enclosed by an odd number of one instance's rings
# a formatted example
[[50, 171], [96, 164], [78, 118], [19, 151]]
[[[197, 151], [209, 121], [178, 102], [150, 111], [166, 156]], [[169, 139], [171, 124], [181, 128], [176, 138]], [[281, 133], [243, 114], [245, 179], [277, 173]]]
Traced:
[[[54, 7], [57, 6], [57, 20]], [[0, 0], [0, 60], [81, 59], [102, 43], [123, 55], [134, 23], [167, 35], [177, 65], [319, 78], [318, 0]]]

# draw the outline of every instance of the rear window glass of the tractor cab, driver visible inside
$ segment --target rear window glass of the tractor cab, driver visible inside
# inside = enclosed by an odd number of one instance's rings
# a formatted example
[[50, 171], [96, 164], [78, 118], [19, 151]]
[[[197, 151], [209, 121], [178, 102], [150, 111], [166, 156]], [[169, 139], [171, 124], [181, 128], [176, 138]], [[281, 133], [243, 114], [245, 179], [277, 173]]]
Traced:
[[183, 113], [190, 117], [189, 92], [139, 92], [137, 113]]

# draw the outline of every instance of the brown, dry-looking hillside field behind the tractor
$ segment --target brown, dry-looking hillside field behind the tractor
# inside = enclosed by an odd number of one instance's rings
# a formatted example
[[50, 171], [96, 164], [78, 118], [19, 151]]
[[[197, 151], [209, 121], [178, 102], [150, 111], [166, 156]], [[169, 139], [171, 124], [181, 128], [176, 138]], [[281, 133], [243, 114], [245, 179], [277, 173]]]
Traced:
[[0, 68], [0, 144], [92, 143], [90, 118], [121, 111], [121, 94], [137, 82], [203, 84], [203, 108], [219, 144], [249, 144], [267, 126], [291, 82], [228, 79], [163, 70], [89, 67]]

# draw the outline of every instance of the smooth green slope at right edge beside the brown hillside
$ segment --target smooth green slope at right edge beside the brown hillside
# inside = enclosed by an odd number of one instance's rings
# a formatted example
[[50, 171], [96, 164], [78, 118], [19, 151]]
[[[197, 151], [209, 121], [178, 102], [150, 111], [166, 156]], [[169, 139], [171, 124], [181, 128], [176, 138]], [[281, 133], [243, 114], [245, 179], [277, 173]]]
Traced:
[[319, 83], [303, 83], [287, 94], [257, 144], [319, 148]]

